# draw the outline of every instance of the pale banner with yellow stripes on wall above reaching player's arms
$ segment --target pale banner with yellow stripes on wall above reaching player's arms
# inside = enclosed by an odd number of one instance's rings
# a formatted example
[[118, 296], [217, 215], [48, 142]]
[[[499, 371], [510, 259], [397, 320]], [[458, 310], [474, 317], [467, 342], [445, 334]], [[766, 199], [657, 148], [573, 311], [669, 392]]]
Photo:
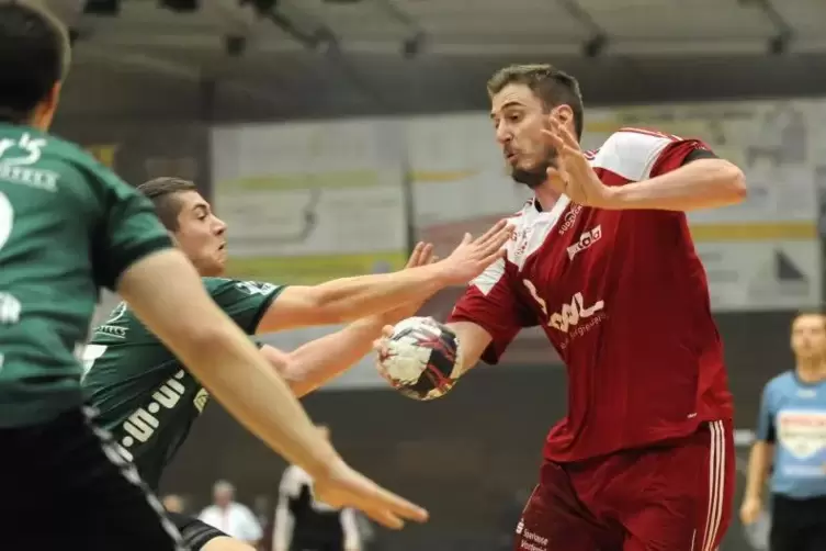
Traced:
[[237, 278], [318, 283], [404, 266], [401, 148], [393, 121], [218, 127], [214, 204]]

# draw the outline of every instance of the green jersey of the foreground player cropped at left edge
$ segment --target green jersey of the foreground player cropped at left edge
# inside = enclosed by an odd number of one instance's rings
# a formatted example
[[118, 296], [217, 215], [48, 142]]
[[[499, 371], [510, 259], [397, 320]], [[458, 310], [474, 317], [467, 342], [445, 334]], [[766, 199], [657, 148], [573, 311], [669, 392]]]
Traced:
[[0, 427], [82, 403], [100, 288], [170, 247], [151, 203], [79, 147], [0, 124]]

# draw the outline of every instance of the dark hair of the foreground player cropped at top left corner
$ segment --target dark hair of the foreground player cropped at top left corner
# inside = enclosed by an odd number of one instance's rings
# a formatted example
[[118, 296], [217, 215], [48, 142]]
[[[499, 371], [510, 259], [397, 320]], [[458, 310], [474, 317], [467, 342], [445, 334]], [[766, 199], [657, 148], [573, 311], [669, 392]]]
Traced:
[[66, 78], [69, 33], [35, 3], [0, 3], [0, 121], [29, 121], [37, 104]]

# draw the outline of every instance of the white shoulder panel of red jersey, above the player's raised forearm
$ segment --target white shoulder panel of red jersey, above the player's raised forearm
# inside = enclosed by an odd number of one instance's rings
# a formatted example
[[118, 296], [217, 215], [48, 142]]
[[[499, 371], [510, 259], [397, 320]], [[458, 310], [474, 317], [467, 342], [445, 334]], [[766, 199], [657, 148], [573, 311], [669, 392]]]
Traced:
[[599, 149], [586, 153], [593, 168], [609, 170], [626, 180], [648, 178], [659, 155], [677, 136], [643, 128], [620, 128]]

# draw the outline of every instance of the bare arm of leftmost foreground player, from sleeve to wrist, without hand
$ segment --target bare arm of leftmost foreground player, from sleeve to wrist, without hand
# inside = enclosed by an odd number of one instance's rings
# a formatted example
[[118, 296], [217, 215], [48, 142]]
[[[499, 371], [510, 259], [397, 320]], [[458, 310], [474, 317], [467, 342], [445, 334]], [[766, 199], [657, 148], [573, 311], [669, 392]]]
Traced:
[[204, 386], [272, 449], [321, 476], [340, 461], [286, 384], [210, 300], [180, 251], [168, 249], [135, 262], [117, 291]]

